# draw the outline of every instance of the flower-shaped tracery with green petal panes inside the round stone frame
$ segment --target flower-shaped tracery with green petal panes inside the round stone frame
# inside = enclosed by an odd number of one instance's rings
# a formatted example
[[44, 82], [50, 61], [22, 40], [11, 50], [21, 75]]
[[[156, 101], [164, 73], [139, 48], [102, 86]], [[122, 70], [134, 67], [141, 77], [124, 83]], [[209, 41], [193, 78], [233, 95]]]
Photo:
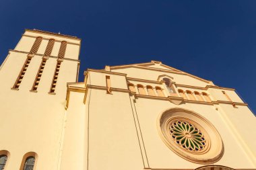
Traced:
[[178, 120], [172, 122], [169, 128], [174, 142], [185, 150], [196, 152], [202, 151], [205, 148], [205, 137], [193, 124]]

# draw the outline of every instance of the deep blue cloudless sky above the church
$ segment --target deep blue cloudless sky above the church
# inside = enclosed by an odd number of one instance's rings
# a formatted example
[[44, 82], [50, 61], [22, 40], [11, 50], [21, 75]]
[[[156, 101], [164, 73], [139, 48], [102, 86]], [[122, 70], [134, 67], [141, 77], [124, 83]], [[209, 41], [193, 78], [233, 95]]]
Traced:
[[87, 68], [160, 60], [235, 88], [256, 111], [256, 1], [14, 1], [0, 5], [0, 63], [25, 28], [82, 38]]

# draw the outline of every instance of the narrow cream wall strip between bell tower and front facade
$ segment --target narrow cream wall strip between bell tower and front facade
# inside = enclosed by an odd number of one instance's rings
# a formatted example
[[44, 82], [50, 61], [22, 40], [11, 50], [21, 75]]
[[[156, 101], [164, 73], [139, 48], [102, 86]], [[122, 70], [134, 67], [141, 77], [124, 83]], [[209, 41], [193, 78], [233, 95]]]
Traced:
[[88, 108], [84, 93], [71, 91], [64, 124], [61, 170], [86, 169]]

